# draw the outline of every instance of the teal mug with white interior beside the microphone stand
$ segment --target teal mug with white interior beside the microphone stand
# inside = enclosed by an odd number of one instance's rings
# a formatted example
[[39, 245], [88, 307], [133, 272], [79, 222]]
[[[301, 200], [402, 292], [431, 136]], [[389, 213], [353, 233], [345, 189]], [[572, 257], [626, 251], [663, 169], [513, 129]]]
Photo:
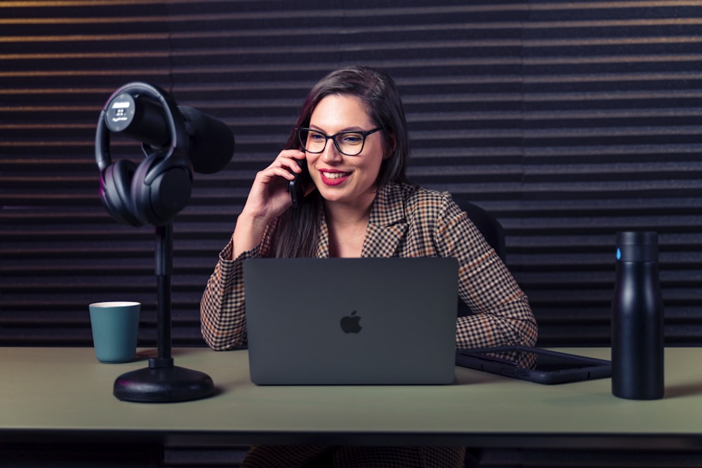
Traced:
[[95, 302], [89, 306], [95, 357], [102, 363], [134, 359], [140, 302]]

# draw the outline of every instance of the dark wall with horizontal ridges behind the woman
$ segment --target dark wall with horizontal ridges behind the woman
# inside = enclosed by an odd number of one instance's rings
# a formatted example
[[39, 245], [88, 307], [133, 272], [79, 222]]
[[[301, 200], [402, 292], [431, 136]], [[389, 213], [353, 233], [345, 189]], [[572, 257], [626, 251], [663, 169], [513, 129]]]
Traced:
[[[173, 342], [253, 175], [306, 92], [349, 63], [395, 77], [414, 182], [494, 213], [540, 345], [607, 345], [617, 231], [660, 234], [669, 345], [702, 335], [702, 5], [695, 1], [0, 1], [0, 344], [90, 345], [87, 304], [140, 300], [154, 233], [98, 200], [95, 126], [131, 81], [225, 121], [237, 152], [175, 223]], [[117, 138], [115, 159], [140, 161]]]

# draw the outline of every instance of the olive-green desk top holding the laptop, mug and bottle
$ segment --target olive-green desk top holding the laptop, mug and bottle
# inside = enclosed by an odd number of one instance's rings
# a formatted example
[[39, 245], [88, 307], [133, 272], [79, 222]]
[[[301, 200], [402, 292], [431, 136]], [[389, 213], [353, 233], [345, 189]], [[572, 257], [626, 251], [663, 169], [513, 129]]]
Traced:
[[[604, 348], [565, 351], [609, 358]], [[216, 396], [115, 399], [114, 379], [146, 366], [152, 353], [102, 364], [91, 348], [0, 348], [0, 442], [702, 446], [702, 349], [666, 349], [658, 401], [617, 399], [609, 379], [546, 386], [464, 368], [446, 386], [256, 387], [246, 351], [204, 348], [173, 356], [178, 366], [208, 373]]]

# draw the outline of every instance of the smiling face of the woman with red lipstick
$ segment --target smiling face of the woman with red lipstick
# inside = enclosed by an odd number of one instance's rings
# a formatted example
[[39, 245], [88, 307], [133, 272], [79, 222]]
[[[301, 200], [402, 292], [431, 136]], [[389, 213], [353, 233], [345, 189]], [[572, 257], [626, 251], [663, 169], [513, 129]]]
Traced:
[[[371, 131], [377, 125], [364, 104], [350, 95], [329, 95], [314, 108], [310, 128], [335, 135], [344, 131]], [[369, 206], [375, 198], [380, 163], [385, 156], [383, 133], [366, 136], [363, 151], [357, 156], [342, 154], [327, 140], [322, 153], [307, 152], [307, 167], [312, 182], [327, 202]]]

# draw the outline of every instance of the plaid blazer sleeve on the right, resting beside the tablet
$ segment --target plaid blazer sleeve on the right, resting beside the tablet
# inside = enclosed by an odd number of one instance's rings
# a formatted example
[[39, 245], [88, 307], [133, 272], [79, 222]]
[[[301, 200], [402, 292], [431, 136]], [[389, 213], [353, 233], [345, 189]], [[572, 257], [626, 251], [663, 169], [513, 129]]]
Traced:
[[472, 315], [456, 321], [456, 347], [536, 344], [529, 300], [473, 222], [446, 194], [435, 242], [439, 255], [458, 259], [458, 295]]

